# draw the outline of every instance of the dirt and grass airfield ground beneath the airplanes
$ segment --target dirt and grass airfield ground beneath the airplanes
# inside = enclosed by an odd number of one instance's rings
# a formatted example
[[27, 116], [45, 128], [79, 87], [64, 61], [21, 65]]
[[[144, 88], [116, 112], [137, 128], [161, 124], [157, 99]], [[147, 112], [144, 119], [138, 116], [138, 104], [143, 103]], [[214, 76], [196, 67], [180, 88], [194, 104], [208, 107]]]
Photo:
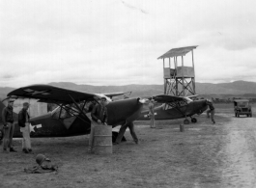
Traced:
[[[252, 118], [235, 118], [232, 104], [215, 104], [216, 123], [206, 114], [183, 120], [136, 121], [139, 145], [113, 146], [113, 154], [88, 153], [88, 135], [32, 139], [33, 153], [0, 150], [0, 187], [256, 187], [256, 105]], [[2, 146], [1, 146], [2, 147]], [[26, 174], [43, 153], [59, 171]]]

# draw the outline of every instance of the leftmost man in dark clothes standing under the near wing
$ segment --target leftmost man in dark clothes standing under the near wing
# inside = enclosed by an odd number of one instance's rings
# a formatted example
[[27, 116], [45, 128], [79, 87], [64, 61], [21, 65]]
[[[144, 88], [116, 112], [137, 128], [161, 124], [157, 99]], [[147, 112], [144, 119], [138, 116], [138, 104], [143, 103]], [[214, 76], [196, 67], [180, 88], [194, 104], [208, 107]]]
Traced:
[[8, 106], [2, 111], [2, 121], [4, 124], [4, 152], [8, 152], [7, 148], [10, 148], [10, 152], [16, 152], [13, 148], [13, 136], [14, 136], [14, 117], [13, 108], [14, 99], [8, 100]]

